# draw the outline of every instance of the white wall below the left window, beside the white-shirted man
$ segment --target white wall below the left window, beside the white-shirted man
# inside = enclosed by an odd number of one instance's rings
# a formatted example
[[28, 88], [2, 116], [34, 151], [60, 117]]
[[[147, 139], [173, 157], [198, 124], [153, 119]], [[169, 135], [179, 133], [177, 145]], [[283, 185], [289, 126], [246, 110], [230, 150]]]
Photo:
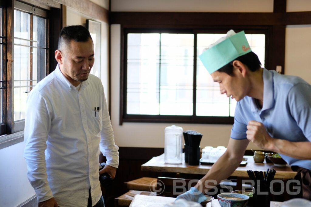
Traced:
[[15, 207], [35, 195], [27, 178], [25, 143], [0, 150], [0, 206]]

